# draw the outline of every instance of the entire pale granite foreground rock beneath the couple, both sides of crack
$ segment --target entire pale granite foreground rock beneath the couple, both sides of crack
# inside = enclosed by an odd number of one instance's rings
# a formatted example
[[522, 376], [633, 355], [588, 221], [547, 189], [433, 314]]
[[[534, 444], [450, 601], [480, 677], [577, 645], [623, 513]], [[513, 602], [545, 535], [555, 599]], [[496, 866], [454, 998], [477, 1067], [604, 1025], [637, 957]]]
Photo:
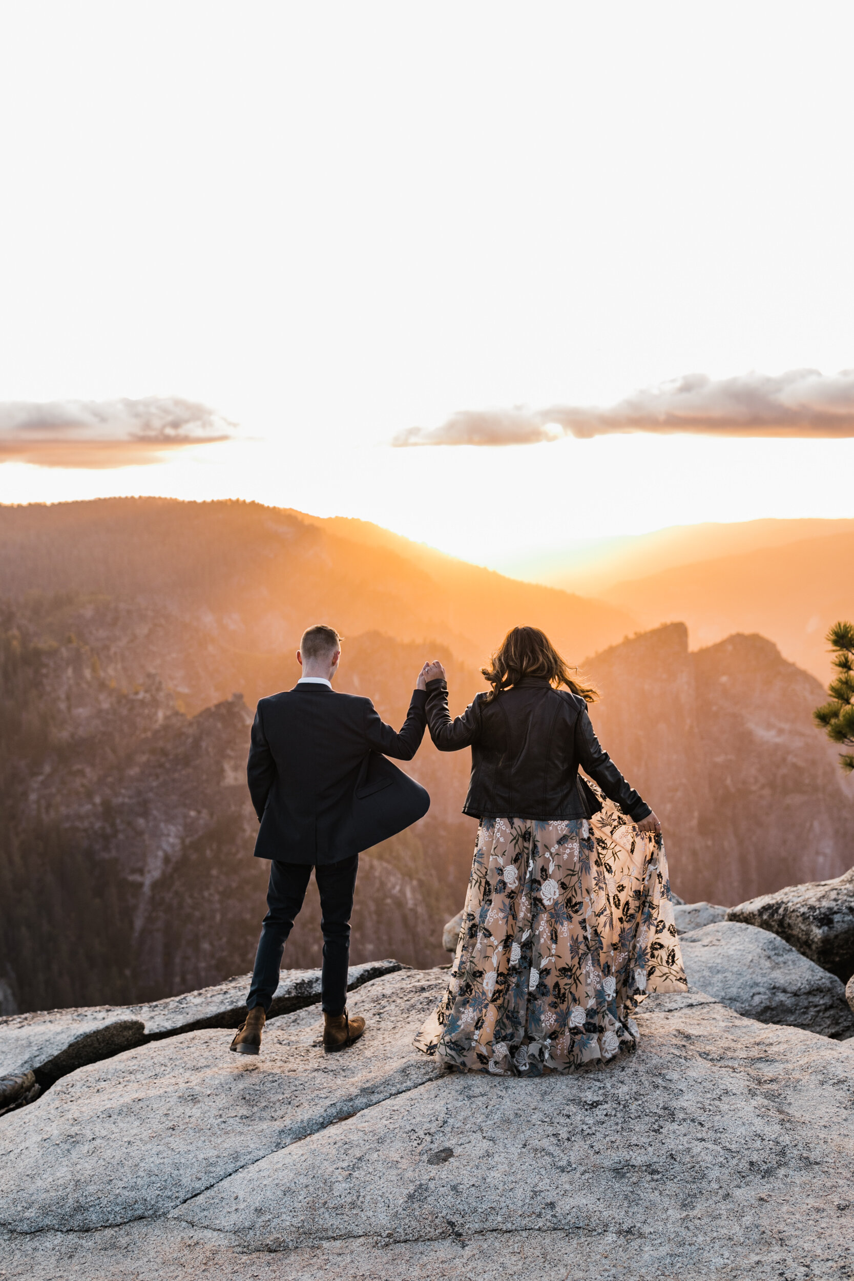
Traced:
[[[851, 1269], [851, 1050], [703, 993], [650, 997], [639, 1050], [539, 1080], [411, 1047], [447, 980], [403, 971], [257, 1059], [201, 1030], [0, 1118], [0, 1257], [27, 1281], [778, 1281]], [[237, 1059], [237, 1062], [236, 1062]]]

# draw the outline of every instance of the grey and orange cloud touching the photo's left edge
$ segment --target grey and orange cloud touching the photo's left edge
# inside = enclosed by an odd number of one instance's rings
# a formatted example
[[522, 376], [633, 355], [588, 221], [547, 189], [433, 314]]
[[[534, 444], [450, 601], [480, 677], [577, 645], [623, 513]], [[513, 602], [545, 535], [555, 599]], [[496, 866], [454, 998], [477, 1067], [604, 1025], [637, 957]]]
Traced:
[[175, 396], [0, 402], [0, 460], [60, 468], [155, 462], [177, 446], [228, 439], [234, 423]]

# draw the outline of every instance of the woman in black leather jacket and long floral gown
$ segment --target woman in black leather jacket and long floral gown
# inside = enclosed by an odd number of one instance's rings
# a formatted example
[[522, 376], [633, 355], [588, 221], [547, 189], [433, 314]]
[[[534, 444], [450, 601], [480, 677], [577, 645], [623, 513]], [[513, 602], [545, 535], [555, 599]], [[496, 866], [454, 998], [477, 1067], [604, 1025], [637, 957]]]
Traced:
[[444, 667], [425, 666], [430, 737], [471, 747], [480, 828], [451, 981], [415, 1044], [461, 1071], [566, 1072], [634, 1049], [643, 994], [688, 986], [661, 824], [543, 632], [513, 628], [481, 670], [492, 689], [452, 720]]

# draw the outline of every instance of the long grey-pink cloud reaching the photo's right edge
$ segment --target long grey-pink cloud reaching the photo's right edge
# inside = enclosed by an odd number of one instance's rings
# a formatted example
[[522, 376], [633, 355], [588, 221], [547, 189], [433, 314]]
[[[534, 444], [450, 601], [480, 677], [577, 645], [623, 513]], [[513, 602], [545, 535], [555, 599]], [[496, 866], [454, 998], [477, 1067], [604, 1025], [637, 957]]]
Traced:
[[854, 370], [793, 369], [768, 377], [686, 374], [611, 409], [463, 410], [435, 428], [408, 428], [393, 445], [533, 445], [561, 436], [691, 432], [711, 436], [854, 436]]

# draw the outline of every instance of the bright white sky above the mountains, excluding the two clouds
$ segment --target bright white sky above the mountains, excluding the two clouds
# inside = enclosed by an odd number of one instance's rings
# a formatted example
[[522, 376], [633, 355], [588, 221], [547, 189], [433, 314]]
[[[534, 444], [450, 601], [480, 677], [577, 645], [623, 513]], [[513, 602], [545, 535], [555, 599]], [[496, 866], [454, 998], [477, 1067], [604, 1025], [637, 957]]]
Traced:
[[0, 501], [245, 497], [483, 564], [854, 516], [854, 439], [389, 448], [461, 409], [854, 365], [854, 9], [0, 6], [0, 400], [183, 396], [238, 443]]

